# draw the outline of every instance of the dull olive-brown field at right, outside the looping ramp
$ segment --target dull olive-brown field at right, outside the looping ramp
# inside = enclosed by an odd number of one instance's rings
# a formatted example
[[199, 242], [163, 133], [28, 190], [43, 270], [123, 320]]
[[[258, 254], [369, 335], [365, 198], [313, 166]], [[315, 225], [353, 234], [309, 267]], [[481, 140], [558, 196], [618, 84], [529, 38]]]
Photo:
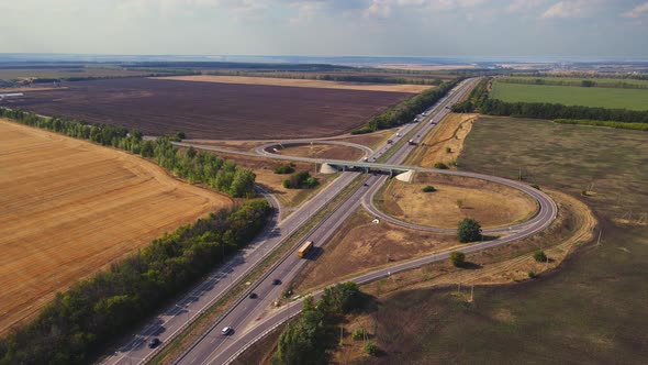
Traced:
[[[368, 364], [648, 364], [648, 134], [482, 118], [459, 158], [465, 170], [516, 178], [581, 197], [602, 221], [602, 245], [582, 247], [539, 279], [474, 289], [410, 290], [372, 313], [387, 355]], [[593, 184], [593, 186], [592, 186]]]

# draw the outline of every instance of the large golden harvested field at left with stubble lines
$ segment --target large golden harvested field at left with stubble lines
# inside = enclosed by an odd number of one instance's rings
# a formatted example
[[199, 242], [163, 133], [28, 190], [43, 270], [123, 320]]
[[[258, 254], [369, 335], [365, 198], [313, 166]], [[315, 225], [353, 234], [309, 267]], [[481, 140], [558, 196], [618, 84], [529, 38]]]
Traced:
[[231, 199], [136, 156], [0, 121], [0, 333], [56, 291]]

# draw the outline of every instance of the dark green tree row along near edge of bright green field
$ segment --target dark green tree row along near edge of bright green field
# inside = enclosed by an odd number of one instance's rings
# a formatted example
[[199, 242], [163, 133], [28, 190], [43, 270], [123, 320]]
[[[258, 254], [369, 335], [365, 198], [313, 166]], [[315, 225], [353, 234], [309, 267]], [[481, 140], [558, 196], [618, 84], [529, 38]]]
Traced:
[[648, 110], [605, 109], [580, 106], [563, 106], [548, 102], [505, 102], [489, 98], [491, 79], [485, 78], [463, 102], [453, 107], [455, 112], [479, 111], [483, 114], [536, 119], [577, 119], [648, 123]]

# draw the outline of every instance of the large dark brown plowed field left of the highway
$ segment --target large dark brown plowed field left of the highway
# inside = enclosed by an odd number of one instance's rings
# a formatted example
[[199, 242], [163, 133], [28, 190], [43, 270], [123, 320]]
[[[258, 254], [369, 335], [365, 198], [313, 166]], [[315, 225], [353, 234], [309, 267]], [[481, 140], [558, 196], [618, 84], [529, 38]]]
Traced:
[[121, 78], [68, 82], [0, 106], [188, 139], [333, 136], [414, 93]]

